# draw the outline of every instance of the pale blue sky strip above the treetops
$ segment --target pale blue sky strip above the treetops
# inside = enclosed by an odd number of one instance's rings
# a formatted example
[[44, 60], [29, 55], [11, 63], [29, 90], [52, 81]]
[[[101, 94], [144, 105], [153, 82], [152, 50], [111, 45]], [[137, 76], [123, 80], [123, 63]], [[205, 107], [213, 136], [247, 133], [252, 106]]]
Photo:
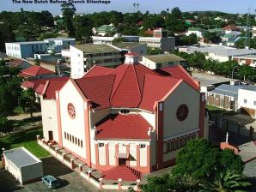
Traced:
[[[34, 1], [48, 1], [50, 0], [25, 0], [33, 3], [13, 3], [13, 1], [24, 0], [0, 0], [0, 11], [19, 11], [24, 10], [48, 10], [52, 15], [59, 15], [60, 4], [54, 3], [34, 3]], [[53, 0], [56, 1], [56, 0]], [[59, 0], [61, 1], [61, 0]], [[76, 0], [74, 0], [76, 1]], [[86, 0], [84, 0], [86, 2]], [[105, 0], [101, 0], [105, 1]], [[107, 0], [108, 1], [108, 0]], [[193, 10], [218, 10], [227, 13], [245, 14], [250, 9], [251, 14], [255, 14], [256, 0], [109, 0], [109, 4], [92, 4], [92, 3], [76, 3], [76, 13], [89, 14], [100, 11], [117, 10], [120, 12], [133, 12], [133, 3], [139, 3], [139, 10], [145, 12], [149, 10], [150, 13], [160, 13], [162, 10], [179, 7], [181, 11]], [[137, 8], [136, 8], [137, 11]]]

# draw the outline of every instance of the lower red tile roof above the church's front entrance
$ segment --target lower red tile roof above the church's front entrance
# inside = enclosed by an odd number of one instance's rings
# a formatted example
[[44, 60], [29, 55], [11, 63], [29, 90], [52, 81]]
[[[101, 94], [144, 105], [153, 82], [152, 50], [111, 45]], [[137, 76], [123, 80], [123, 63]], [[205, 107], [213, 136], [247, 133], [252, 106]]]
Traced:
[[141, 115], [109, 115], [95, 126], [96, 139], [149, 139], [151, 129]]

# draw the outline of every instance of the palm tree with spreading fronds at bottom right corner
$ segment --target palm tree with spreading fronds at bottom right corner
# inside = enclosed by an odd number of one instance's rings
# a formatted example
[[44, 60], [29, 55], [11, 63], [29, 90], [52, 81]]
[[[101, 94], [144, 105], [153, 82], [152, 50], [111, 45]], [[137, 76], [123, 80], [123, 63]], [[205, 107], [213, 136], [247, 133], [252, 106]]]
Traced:
[[246, 177], [229, 170], [216, 174], [216, 177], [210, 182], [207, 181], [199, 184], [202, 192], [232, 192], [237, 189], [240, 189], [239, 191], [247, 191], [241, 189], [245, 189], [250, 185], [251, 183], [247, 182]]

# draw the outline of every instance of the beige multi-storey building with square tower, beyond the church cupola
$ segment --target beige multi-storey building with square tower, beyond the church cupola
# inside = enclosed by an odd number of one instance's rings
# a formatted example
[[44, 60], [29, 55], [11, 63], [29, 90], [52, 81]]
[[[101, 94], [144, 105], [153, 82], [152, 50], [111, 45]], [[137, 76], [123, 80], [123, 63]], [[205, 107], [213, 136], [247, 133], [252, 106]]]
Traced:
[[153, 37], [140, 37], [139, 43], [146, 43], [148, 47], [162, 51], [174, 51], [175, 49], [175, 38], [168, 37], [168, 31], [162, 28], [155, 29]]

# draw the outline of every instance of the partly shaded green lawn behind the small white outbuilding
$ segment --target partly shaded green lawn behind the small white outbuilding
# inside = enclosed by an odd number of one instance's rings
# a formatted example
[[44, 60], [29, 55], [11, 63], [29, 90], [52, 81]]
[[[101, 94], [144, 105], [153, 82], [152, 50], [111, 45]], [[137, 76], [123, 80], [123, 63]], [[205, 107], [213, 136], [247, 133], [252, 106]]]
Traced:
[[42, 136], [42, 129], [30, 129], [0, 138], [1, 153], [2, 147], [6, 150], [15, 147], [26, 147], [28, 151], [34, 153], [34, 155], [40, 159], [48, 157], [50, 153], [46, 152], [46, 150], [37, 144], [36, 135]]

